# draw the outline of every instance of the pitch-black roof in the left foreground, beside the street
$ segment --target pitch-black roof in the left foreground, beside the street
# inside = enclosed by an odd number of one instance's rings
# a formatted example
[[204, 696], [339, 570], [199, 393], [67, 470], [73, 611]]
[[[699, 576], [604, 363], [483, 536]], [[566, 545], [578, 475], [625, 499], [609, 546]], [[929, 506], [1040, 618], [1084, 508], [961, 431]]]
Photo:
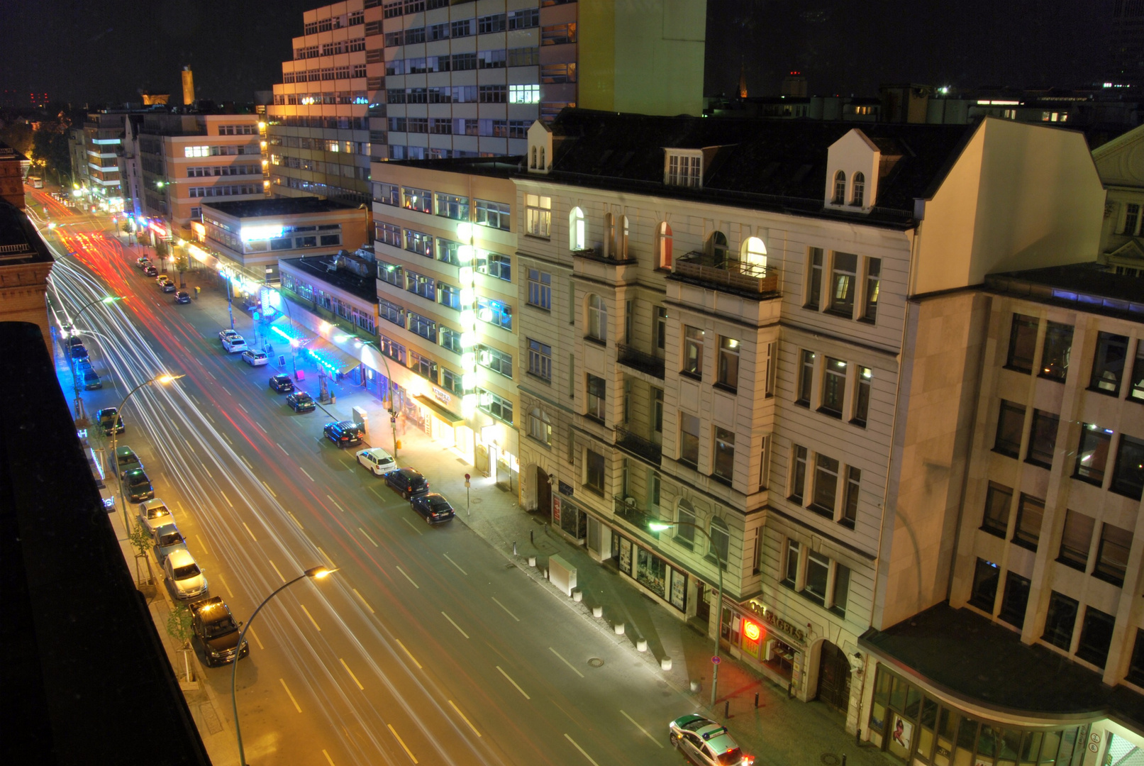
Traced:
[[0, 431], [5, 760], [208, 766], [39, 327], [0, 322], [0, 359], [19, 360]]

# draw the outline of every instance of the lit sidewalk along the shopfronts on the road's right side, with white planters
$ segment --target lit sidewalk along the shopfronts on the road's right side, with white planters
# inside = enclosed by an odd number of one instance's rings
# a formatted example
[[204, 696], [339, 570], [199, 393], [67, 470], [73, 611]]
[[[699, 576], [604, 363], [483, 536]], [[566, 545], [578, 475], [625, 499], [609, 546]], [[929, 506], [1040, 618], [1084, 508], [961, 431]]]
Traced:
[[[337, 420], [352, 420], [353, 407], [363, 407], [370, 417], [366, 441], [392, 452], [389, 413], [382, 402], [368, 392], [351, 384], [331, 384], [335, 404], [320, 405]], [[597, 564], [581, 545], [548, 529], [546, 518], [524, 511], [514, 494], [499, 488], [494, 478], [479, 476], [471, 465], [462, 464], [459, 454], [440, 447], [423, 432], [408, 428], [398, 433], [402, 448], [399, 465], [412, 465], [430, 480], [432, 489], [448, 497], [456, 508], [455, 521], [468, 525], [493, 548], [514, 561], [529, 576], [553, 596], [572, 607], [580, 619], [595, 623], [609, 640], [628, 646], [633, 656], [643, 657], [650, 668], [675, 689], [689, 694], [694, 710], [715, 720], [724, 720], [724, 709], [730, 717], [728, 727], [746, 752], [755, 755], [755, 763], [766, 766], [841, 766], [842, 759], [856, 766], [885, 766], [889, 759], [877, 749], [863, 743], [844, 731], [841, 713], [819, 702], [799, 702], [787, 697], [786, 688], [752, 671], [721, 652], [718, 701], [710, 708], [710, 669], [713, 639], [706, 632], [672, 615], [666, 608], [641, 593], [614, 567]], [[466, 511], [464, 474], [472, 474], [471, 503]], [[516, 556], [514, 556], [514, 545]], [[583, 595], [580, 604], [564, 596], [549, 583], [543, 573], [548, 557], [559, 554], [577, 567], [578, 589]], [[530, 567], [527, 558], [537, 557]], [[593, 607], [603, 607], [603, 617], [591, 616]], [[617, 636], [614, 623], [625, 623], [625, 633]], [[704, 627], [706, 629], [706, 625]], [[648, 641], [648, 651], [636, 652], [637, 640]], [[672, 669], [660, 669], [660, 659], [670, 657]], [[690, 684], [700, 683], [700, 691], [691, 693]], [[855, 678], [855, 683], [860, 683]], [[755, 708], [755, 696], [758, 708]], [[681, 710], [683, 712], [689, 712]], [[665, 726], [667, 721], [664, 721]]]

